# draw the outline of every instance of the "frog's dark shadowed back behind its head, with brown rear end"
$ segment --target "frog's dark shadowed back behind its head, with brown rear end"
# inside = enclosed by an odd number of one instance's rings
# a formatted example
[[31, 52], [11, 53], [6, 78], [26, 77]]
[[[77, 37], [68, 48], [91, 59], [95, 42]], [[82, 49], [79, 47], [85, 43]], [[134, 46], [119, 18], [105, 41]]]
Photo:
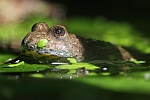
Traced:
[[78, 37], [84, 47], [84, 60], [125, 60], [133, 56], [120, 46], [100, 40]]

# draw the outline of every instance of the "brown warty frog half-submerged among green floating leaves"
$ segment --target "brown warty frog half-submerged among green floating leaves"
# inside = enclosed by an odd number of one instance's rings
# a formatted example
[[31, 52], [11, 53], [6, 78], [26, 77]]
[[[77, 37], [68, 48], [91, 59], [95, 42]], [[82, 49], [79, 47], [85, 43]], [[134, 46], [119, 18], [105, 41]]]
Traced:
[[13, 61], [52, 63], [54, 61], [66, 62], [67, 58], [75, 58], [77, 62], [129, 61], [134, 58], [121, 46], [70, 34], [62, 25], [49, 27], [45, 22], [38, 22], [32, 26], [31, 32], [22, 40], [21, 47], [21, 54]]

